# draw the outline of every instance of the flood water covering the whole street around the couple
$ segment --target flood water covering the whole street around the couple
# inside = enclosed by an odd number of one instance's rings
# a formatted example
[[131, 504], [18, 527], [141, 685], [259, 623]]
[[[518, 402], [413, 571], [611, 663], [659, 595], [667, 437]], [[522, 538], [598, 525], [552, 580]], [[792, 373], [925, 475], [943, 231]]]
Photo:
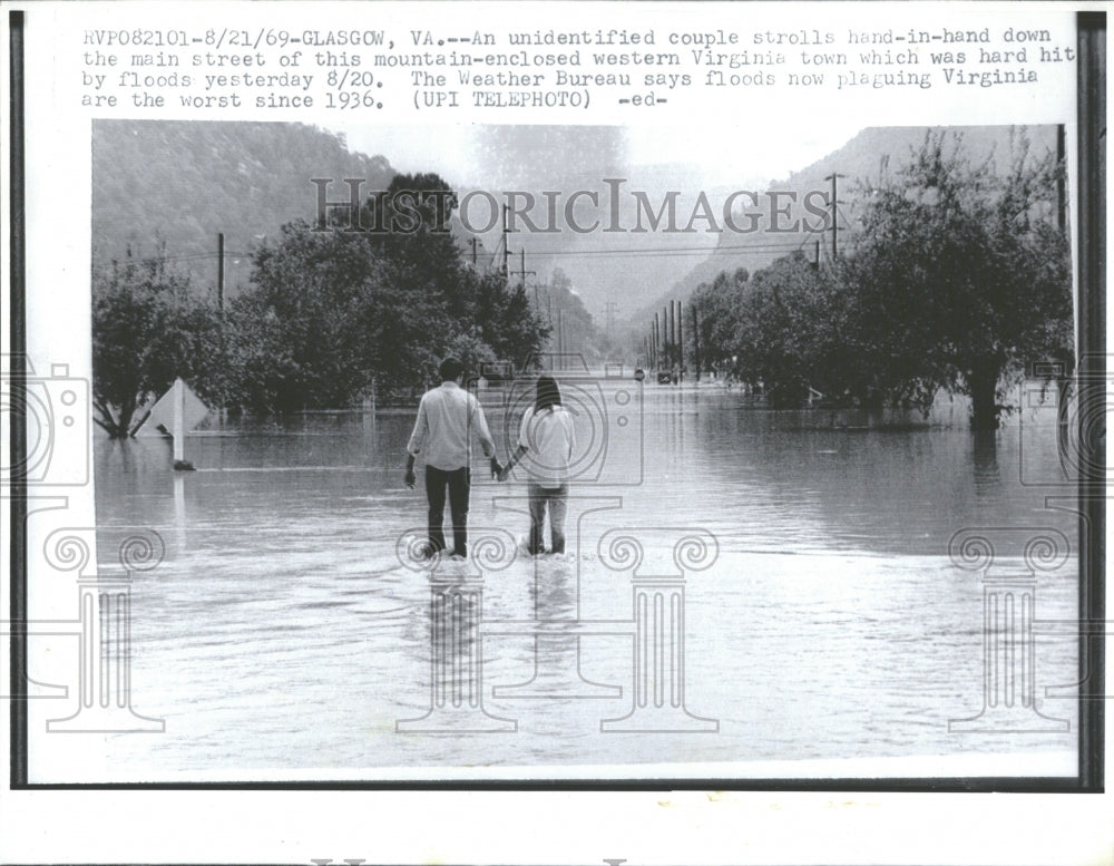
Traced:
[[[130, 669], [133, 710], [165, 731], [106, 734], [106, 775], [1074, 775], [1054, 412], [987, 439], [946, 402], [924, 428], [833, 429], [711, 386], [565, 392], [567, 554], [516, 553], [525, 485], [477, 459], [473, 558], [433, 572], [404, 554], [426, 519], [402, 484], [412, 411], [214, 425], [187, 437], [195, 473], [163, 439], [98, 440], [101, 568], [135, 527], [165, 544], [131, 585]], [[506, 455], [521, 401], [483, 402]], [[1027, 584], [1018, 656], [985, 650], [984, 575], [948, 555], [971, 527], [997, 527], [989, 576], [1023, 582], [1026, 532], [1071, 539]], [[1006, 707], [996, 678], [1026, 646], [1036, 703], [1018, 684]]]

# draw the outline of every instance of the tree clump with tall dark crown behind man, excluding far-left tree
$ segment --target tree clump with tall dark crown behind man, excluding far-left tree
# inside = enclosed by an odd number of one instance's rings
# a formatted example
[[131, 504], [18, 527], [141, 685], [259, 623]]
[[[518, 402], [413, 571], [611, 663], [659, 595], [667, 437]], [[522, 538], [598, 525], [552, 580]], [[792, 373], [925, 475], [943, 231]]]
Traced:
[[455, 202], [437, 175], [400, 175], [360, 226], [284, 226], [232, 311], [238, 401], [341, 408], [422, 386], [448, 353], [478, 372], [536, 352], [545, 327], [520, 290], [465, 262], [446, 226]]

